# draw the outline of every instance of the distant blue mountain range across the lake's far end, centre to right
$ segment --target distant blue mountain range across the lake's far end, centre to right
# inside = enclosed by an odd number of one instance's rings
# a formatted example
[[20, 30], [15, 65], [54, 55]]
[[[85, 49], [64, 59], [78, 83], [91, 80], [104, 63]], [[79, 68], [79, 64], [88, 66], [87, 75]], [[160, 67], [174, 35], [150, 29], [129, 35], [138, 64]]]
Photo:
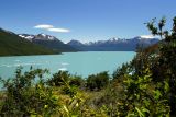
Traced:
[[138, 36], [131, 39], [111, 38], [108, 40], [89, 42], [86, 44], [79, 40], [70, 40], [68, 45], [84, 51], [135, 51], [138, 45], [148, 47], [158, 43], [157, 38]]

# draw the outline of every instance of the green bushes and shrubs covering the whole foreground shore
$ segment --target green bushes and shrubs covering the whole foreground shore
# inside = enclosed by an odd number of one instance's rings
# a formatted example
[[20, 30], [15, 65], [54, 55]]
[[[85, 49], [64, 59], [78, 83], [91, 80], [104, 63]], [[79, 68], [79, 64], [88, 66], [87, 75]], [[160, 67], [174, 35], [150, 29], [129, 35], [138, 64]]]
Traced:
[[22, 73], [2, 80], [0, 114], [7, 117], [176, 117], [176, 17], [172, 32], [165, 19], [146, 23], [163, 40], [155, 47], [139, 47], [129, 63], [82, 79], [48, 70]]

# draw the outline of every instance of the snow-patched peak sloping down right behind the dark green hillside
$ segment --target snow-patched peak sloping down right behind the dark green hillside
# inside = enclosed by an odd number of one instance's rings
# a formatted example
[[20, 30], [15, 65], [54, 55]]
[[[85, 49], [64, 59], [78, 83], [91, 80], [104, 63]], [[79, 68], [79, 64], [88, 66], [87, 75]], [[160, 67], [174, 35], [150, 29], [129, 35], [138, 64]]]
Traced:
[[74, 47], [64, 44], [58, 38], [46, 35], [46, 34], [38, 34], [38, 35], [29, 35], [29, 34], [19, 34], [20, 37], [25, 38], [34, 44], [42, 45], [44, 47], [51, 48], [55, 51], [77, 51]]

